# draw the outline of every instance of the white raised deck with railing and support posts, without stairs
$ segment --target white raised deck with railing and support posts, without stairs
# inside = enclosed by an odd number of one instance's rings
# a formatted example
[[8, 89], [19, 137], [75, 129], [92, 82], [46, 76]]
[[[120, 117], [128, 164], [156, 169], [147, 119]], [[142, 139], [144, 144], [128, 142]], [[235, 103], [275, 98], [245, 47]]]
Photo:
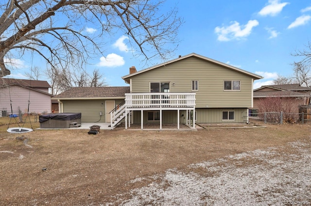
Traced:
[[[125, 94], [125, 129], [131, 127], [131, 111], [140, 111], [143, 129], [143, 111], [159, 111], [162, 129], [162, 111], [177, 111], [177, 129], [180, 124], [180, 111], [187, 111], [187, 124], [192, 120], [195, 128], [195, 93], [127, 93]], [[189, 114], [192, 115], [189, 115]]]

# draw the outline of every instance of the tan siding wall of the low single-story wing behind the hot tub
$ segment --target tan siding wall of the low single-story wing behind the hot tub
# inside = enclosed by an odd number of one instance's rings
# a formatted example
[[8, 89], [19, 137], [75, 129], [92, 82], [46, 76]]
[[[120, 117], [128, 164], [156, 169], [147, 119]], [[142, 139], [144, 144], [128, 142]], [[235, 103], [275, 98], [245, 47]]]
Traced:
[[[111, 101], [113, 99], [109, 99]], [[115, 104], [120, 104], [124, 99], [116, 99]], [[64, 112], [81, 112], [82, 123], [105, 123], [106, 112], [105, 112], [105, 100], [62, 100]], [[102, 106], [103, 104], [103, 106]], [[102, 117], [99, 115], [102, 112]]]

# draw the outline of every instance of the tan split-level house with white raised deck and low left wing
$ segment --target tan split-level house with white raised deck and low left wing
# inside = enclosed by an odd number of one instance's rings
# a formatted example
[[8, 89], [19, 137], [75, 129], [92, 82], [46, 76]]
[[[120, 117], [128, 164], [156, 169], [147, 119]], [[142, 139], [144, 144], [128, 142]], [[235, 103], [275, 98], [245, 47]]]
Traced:
[[[129, 87], [72, 88], [52, 99], [81, 122], [130, 124], [244, 123], [253, 107], [253, 82], [262, 77], [191, 53], [122, 79]], [[116, 90], [116, 91], [115, 91]], [[125, 101], [124, 101], [125, 100]], [[101, 114], [101, 119], [99, 114]], [[110, 117], [110, 119], [109, 119]]]

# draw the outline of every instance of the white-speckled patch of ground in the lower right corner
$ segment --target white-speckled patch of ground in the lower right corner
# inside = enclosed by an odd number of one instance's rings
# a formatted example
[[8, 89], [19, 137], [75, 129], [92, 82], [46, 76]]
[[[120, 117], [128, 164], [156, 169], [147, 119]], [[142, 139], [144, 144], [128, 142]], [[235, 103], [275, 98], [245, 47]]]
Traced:
[[282, 206], [311, 205], [311, 140], [245, 152], [163, 175], [106, 205]]

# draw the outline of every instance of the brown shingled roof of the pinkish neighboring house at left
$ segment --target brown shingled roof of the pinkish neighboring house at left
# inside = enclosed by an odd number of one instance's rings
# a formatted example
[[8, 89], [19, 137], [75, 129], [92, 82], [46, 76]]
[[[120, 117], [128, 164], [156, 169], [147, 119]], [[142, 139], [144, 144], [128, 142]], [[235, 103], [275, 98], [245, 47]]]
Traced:
[[14, 84], [30, 88], [51, 88], [47, 81], [42, 80], [0, 78], [0, 86]]

